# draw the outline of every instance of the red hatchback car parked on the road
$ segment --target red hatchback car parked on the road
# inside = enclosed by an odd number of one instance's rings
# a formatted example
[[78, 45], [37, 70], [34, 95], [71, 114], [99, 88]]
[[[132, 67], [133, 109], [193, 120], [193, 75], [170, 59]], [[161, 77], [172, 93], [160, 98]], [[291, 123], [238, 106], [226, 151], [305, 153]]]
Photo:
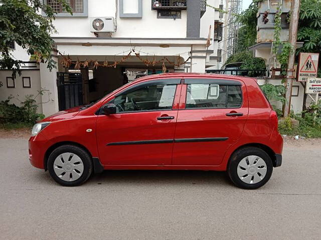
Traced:
[[276, 112], [255, 79], [166, 73], [43, 119], [29, 158], [65, 186], [104, 169], [193, 169], [226, 170], [253, 189], [281, 165], [282, 147]]

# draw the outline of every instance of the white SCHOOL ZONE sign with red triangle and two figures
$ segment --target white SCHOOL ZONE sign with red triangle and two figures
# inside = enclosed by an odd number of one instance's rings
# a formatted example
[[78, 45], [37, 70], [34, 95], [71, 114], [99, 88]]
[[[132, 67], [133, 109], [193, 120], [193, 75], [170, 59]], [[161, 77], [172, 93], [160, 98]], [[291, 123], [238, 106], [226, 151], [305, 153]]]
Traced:
[[319, 53], [300, 52], [297, 69], [297, 80], [307, 81], [309, 77], [316, 77]]

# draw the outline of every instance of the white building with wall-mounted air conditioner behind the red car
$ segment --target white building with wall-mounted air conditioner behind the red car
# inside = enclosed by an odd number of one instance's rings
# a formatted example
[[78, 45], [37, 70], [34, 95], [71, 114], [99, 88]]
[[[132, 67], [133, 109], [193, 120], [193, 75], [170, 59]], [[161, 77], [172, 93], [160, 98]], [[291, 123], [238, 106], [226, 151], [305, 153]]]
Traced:
[[[222, 21], [222, 14], [206, 7], [206, 0], [73, 0], [73, 15], [59, 12], [54, 24], [57, 33], [53, 58], [57, 69], [49, 71], [46, 64], [30, 62], [30, 56], [19, 45], [14, 55], [25, 61], [22, 75], [15, 80], [10, 70], [0, 71], [0, 100], [8, 96], [38, 95], [39, 111], [52, 114], [79, 104], [97, 100], [106, 93], [131, 80], [136, 74], [167, 71], [205, 72], [206, 67], [217, 68], [218, 38], [214, 38], [214, 24]], [[208, 0], [220, 7], [220, 2]], [[57, 0], [45, 0], [55, 10]], [[222, 7], [222, 6], [221, 6]], [[45, 15], [44, 13], [42, 13]], [[214, 23], [215, 22], [215, 23]], [[211, 28], [211, 45], [207, 44]], [[96, 29], [95, 29], [96, 28]], [[217, 35], [217, 33], [215, 33]], [[93, 67], [120, 61], [132, 49], [131, 56], [115, 67]], [[139, 53], [140, 59], [134, 53]], [[62, 64], [64, 54], [73, 63]], [[143, 60], [156, 62], [146, 64]], [[75, 62], [92, 60], [89, 67], [75, 69]], [[161, 60], [161, 61], [160, 61]], [[178, 63], [184, 62], [181, 65]], [[77, 68], [77, 67], [76, 67]], [[58, 77], [57, 77], [58, 76]], [[50, 94], [48, 94], [50, 93]], [[18, 100], [13, 99], [18, 103]]]

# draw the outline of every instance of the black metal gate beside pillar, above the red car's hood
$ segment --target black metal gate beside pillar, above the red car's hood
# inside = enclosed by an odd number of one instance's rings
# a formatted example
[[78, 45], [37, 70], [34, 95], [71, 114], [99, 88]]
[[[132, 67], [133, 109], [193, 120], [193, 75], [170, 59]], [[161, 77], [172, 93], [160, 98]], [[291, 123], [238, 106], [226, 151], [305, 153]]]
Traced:
[[83, 104], [81, 73], [57, 72], [59, 110]]

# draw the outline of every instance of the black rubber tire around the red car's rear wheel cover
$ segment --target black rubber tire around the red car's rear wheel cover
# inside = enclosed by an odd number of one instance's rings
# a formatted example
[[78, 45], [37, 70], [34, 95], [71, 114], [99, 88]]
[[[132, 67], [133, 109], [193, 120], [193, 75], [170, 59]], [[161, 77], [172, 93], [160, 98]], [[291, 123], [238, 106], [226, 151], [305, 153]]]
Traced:
[[[263, 177], [263, 179], [257, 183], [246, 183], [244, 181], [242, 181], [240, 179], [240, 177], [237, 174], [237, 167], [239, 162], [246, 156], [250, 156], [250, 155], [256, 155], [261, 157], [265, 163], [266, 163], [266, 174]], [[232, 182], [240, 187], [240, 188], [244, 188], [244, 189], [256, 189], [259, 188], [261, 186], [263, 186], [271, 177], [272, 175], [272, 171], [273, 171], [273, 164], [272, 164], [272, 160], [270, 158], [270, 156], [261, 148], [258, 147], [244, 147], [244, 148], [240, 148], [239, 150], [236, 150], [230, 157], [229, 160], [229, 164], [228, 164], [228, 168], [227, 168], [227, 172], [228, 175], [230, 177], [230, 179], [232, 180]]]

